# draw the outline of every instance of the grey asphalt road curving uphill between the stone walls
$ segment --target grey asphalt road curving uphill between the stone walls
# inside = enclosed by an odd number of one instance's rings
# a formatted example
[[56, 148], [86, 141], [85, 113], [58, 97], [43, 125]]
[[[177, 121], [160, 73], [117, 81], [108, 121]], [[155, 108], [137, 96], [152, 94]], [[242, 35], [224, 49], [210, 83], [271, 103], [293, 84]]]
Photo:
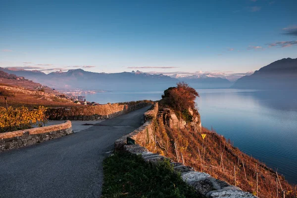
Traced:
[[99, 198], [102, 160], [142, 125], [145, 107], [69, 136], [0, 152], [0, 198]]

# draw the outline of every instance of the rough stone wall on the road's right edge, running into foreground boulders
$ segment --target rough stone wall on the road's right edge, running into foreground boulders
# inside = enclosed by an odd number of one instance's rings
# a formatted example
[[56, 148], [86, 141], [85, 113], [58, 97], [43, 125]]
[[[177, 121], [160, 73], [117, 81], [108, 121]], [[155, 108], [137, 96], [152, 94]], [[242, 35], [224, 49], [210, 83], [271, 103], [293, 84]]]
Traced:
[[[115, 141], [116, 150], [122, 149], [132, 154], [141, 155], [148, 163], [157, 163], [160, 160], [168, 159], [157, 153], [148, 151], [144, 144], [149, 145], [154, 142], [154, 131], [152, 128], [153, 118], [157, 115], [158, 104], [155, 103], [151, 110], [145, 113], [147, 117], [143, 126], [133, 131], [132, 133], [123, 136]], [[135, 145], [127, 145], [127, 137], [135, 140]], [[141, 146], [143, 145], [143, 146]], [[207, 173], [197, 172], [190, 166], [185, 166], [182, 163], [177, 163], [168, 159], [173, 165], [176, 172], [180, 172], [182, 179], [193, 186], [198, 195], [204, 198], [256, 198], [248, 192], [242, 191], [239, 187], [232, 186], [227, 182], [215, 179]]]

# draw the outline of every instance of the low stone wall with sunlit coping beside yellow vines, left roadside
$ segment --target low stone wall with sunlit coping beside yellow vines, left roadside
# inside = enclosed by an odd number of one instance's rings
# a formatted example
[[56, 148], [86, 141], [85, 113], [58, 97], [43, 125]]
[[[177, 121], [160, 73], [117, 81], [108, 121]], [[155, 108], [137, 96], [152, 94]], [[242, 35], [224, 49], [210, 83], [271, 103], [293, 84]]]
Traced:
[[72, 134], [70, 121], [47, 127], [0, 133], [0, 152], [7, 149], [33, 145], [69, 134]]

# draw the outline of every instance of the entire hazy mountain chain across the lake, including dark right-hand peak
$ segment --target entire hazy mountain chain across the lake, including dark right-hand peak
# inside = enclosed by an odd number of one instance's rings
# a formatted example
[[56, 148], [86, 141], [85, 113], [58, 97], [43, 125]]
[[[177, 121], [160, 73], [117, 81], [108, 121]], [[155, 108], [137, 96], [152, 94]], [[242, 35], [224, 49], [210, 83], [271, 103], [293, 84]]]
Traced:
[[185, 81], [195, 89], [235, 88], [235, 89], [297, 89], [297, 58], [277, 60], [238, 79], [234, 84], [225, 78], [209, 74], [166, 76], [148, 74], [141, 71], [121, 73], [96, 73], [83, 69], [70, 69], [45, 74], [38, 70], [1, 68], [9, 74], [23, 76], [34, 82], [55, 89], [84, 89], [106, 91], [161, 91]]

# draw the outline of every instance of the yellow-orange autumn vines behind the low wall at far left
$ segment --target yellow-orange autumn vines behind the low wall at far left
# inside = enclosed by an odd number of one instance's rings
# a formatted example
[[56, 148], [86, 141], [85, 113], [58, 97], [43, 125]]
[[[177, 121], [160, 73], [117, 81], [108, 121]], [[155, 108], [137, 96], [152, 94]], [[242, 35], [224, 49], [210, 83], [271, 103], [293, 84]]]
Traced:
[[38, 106], [33, 110], [24, 106], [0, 107], [0, 133], [29, 129], [33, 125], [42, 126], [47, 121], [46, 110], [44, 106]]

